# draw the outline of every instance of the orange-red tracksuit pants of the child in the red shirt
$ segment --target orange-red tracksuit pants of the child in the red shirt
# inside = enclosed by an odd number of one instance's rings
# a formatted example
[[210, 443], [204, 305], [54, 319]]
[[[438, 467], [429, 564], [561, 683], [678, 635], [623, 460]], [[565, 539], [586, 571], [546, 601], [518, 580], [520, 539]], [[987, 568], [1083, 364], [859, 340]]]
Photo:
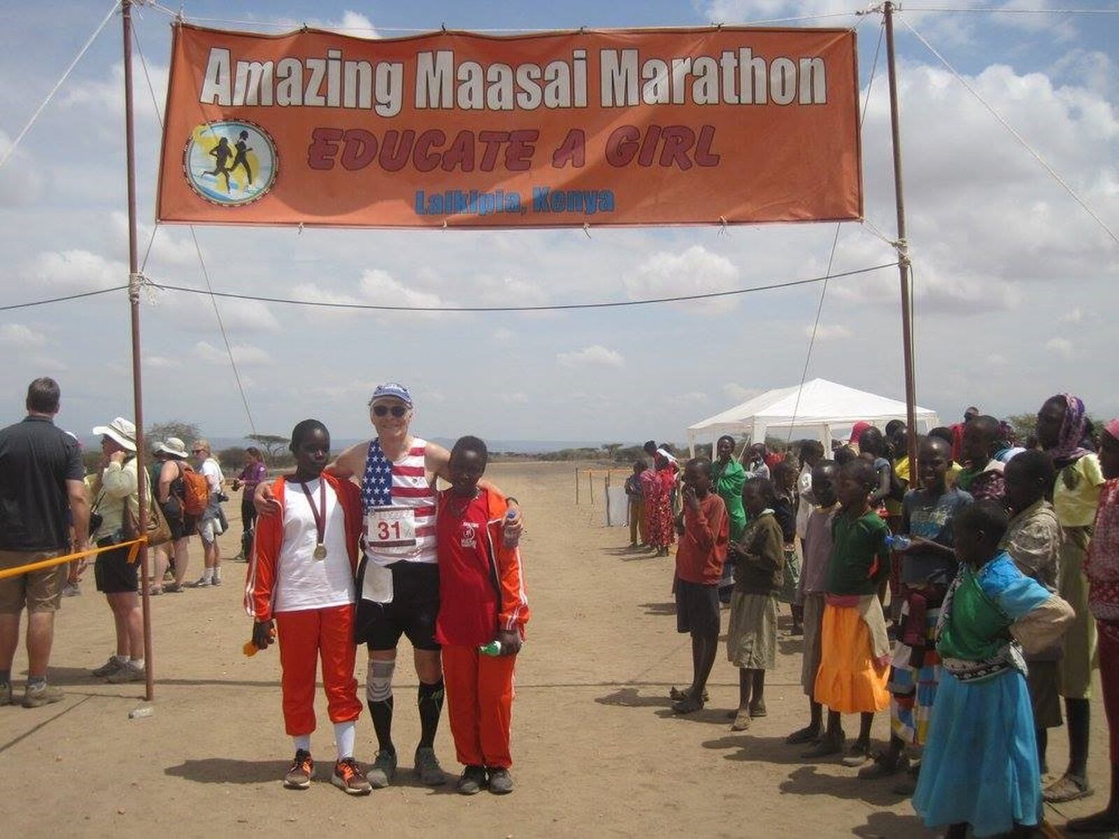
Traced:
[[477, 647], [443, 647], [448, 717], [459, 763], [509, 769], [516, 656], [482, 656]]

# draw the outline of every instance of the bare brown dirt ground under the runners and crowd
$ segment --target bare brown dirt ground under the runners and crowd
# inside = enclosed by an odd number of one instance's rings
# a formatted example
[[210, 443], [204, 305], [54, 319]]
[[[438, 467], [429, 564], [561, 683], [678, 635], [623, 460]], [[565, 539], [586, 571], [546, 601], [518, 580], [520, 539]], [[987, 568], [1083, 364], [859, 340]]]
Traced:
[[[769, 716], [732, 734], [725, 710], [737, 700], [737, 671], [721, 653], [712, 701], [674, 716], [668, 688], [685, 685], [689, 643], [675, 631], [671, 559], [628, 549], [624, 528], [602, 526], [602, 499], [575, 505], [571, 464], [493, 464], [490, 477], [526, 511], [521, 541], [533, 619], [517, 669], [514, 705], [516, 791], [462, 798], [453, 784], [420, 786], [412, 777], [419, 736], [416, 679], [406, 641], [396, 673], [395, 785], [349, 799], [329, 783], [333, 744], [326, 703], [317, 700], [312, 738], [317, 783], [281, 786], [292, 746], [280, 711], [275, 648], [245, 658], [245, 566], [224, 564], [219, 588], [152, 598], [154, 714], [130, 719], [143, 686], [113, 686], [88, 669], [112, 651], [104, 598], [83, 582], [64, 601], [50, 677], [66, 698], [38, 709], [0, 708], [3, 835], [179, 836], [305, 835], [322, 828], [383, 826], [396, 836], [931, 836], [894, 781], [865, 782], [838, 762], [806, 763], [784, 736], [807, 718], [798, 684], [800, 641], [782, 607], [779, 664], [769, 673]], [[234, 526], [223, 553], [239, 543], [239, 499], [226, 506]], [[191, 545], [191, 573], [201, 566]], [[726, 616], [724, 613], [724, 625]], [[26, 658], [13, 681], [22, 688]], [[365, 656], [358, 653], [364, 699]], [[1097, 793], [1050, 811], [1055, 824], [1107, 799], [1107, 730], [1093, 700], [1091, 777]], [[845, 720], [848, 734], [857, 726]], [[887, 736], [886, 715], [875, 736]], [[368, 715], [358, 722], [357, 758], [373, 760]], [[445, 722], [436, 751], [450, 775], [460, 766]], [[1066, 757], [1053, 732], [1050, 763]], [[449, 775], [449, 776], [450, 776]]]

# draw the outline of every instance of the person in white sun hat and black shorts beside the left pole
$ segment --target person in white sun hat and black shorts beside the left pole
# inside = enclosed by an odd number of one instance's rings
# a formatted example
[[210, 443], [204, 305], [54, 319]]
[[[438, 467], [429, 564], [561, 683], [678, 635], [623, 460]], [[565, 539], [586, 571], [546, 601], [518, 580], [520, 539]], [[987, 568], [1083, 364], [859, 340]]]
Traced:
[[[101, 462], [86, 481], [93, 498], [93, 512], [100, 516], [91, 539], [97, 547], [125, 541], [125, 506], [139, 518], [139, 477], [137, 474], [137, 430], [130, 420], [116, 417], [109, 425], [93, 430], [101, 436]], [[94, 516], [94, 521], [97, 517]], [[116, 628], [116, 651], [93, 670], [93, 676], [111, 682], [143, 681], [143, 615], [137, 596], [139, 563], [129, 562], [129, 548], [97, 554], [93, 572], [97, 591], [105, 595]]]

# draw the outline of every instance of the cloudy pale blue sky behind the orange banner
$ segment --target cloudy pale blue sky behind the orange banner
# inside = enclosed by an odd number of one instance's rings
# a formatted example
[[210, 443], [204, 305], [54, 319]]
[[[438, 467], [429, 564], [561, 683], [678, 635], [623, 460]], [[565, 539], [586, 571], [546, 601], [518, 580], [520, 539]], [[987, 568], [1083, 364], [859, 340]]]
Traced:
[[[922, 3], [922, 4], [932, 4]], [[975, 6], [975, 3], [952, 3]], [[839, 0], [452, 3], [187, 2], [188, 19], [327, 27], [567, 28], [750, 22], [849, 12]], [[1010, 6], [1015, 6], [1012, 3]], [[1018, 8], [1042, 8], [1029, 3]], [[1106, 8], [1089, 2], [1079, 8]], [[109, 9], [20, 4], [0, 12], [0, 152]], [[1119, 229], [1119, 16], [903, 11], [968, 82]], [[858, 23], [866, 93], [880, 16]], [[222, 26], [213, 23], [214, 26]], [[798, 23], [798, 25], [808, 25]], [[168, 18], [137, 28], [162, 107]], [[262, 31], [275, 31], [261, 26]], [[919, 402], [955, 420], [969, 404], [997, 415], [1049, 395], [1119, 414], [1112, 321], [1119, 247], [906, 30], [897, 25], [906, 205], [916, 273]], [[0, 169], [0, 304], [126, 280], [121, 37], [114, 19]], [[884, 59], [864, 125], [866, 217], [893, 234]], [[152, 229], [160, 133], [137, 64], [141, 246]], [[869, 225], [843, 225], [835, 270], [888, 262]], [[566, 303], [718, 291], [824, 273], [836, 227], [770, 225], [433, 233], [196, 228], [214, 287], [365, 302]], [[188, 228], [160, 228], [147, 272], [203, 284]], [[892, 271], [834, 281], [809, 376], [903, 394]], [[683, 440], [684, 427], [761, 389], [799, 380], [818, 286], [717, 304], [557, 314], [331, 314], [222, 301], [260, 431], [319, 416], [336, 436], [368, 428], [365, 399], [398, 379], [432, 436]], [[84, 432], [131, 414], [123, 294], [0, 313], [0, 420], [18, 418], [27, 381], [53, 375], [59, 423]], [[160, 293], [143, 305], [145, 415], [214, 436], [248, 421], [204, 298]]]

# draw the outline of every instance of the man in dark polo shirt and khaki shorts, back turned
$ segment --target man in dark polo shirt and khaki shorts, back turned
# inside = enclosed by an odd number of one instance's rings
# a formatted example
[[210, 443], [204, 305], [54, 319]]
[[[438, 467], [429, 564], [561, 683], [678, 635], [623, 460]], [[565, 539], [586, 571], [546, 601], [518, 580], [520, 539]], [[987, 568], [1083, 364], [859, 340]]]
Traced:
[[[55, 427], [58, 383], [38, 378], [27, 388], [27, 418], [0, 430], [0, 569], [63, 556], [90, 543], [90, 502], [77, 441]], [[23, 707], [63, 698], [47, 685], [55, 612], [66, 564], [0, 579], [0, 705], [11, 705], [11, 662], [27, 607], [27, 690]]]

